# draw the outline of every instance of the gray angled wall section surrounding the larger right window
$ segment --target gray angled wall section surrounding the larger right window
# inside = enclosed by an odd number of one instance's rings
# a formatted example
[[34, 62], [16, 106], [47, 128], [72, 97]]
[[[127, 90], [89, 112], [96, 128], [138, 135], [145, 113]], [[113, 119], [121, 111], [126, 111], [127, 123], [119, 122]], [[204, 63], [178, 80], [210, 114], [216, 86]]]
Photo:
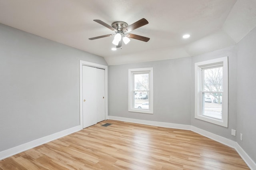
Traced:
[[[209, 59], [215, 59], [220, 57], [228, 56], [228, 128], [208, 123], [194, 118], [194, 87], [195, 87], [195, 76], [194, 76], [194, 63], [200, 61], [206, 61]], [[218, 134], [225, 138], [236, 140], [235, 136], [231, 135], [231, 128], [236, 129], [236, 76], [237, 76], [237, 49], [236, 45], [227, 47], [224, 49], [216, 50], [210, 53], [205, 53], [192, 57], [192, 93], [191, 93], [191, 125], [198, 127], [208, 132]]]

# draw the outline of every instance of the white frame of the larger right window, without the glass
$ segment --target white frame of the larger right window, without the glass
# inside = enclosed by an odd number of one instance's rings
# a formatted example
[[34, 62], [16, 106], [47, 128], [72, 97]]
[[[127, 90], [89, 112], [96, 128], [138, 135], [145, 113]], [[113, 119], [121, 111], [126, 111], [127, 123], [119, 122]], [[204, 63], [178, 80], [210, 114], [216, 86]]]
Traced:
[[[202, 99], [202, 69], [223, 65], [223, 92], [222, 92], [222, 119], [202, 115], [203, 99]], [[212, 59], [195, 63], [195, 118], [223, 127], [228, 127], [228, 57]]]

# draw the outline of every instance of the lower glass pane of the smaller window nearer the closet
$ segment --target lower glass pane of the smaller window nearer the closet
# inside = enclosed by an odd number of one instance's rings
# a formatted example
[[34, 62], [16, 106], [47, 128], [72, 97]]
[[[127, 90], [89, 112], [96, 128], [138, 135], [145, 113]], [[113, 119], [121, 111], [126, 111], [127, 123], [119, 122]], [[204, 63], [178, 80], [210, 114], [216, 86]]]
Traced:
[[134, 92], [134, 109], [149, 109], [148, 92], [136, 91]]

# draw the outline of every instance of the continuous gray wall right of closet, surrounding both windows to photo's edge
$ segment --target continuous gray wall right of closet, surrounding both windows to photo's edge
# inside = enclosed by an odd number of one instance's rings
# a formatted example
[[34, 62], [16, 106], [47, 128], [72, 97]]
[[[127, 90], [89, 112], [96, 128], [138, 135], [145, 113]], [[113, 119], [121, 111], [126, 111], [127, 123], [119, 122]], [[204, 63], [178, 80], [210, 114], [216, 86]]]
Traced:
[[[256, 29], [238, 45], [202, 55], [109, 66], [109, 115], [192, 125], [237, 141], [256, 162]], [[194, 118], [194, 63], [228, 56], [228, 128]], [[128, 112], [128, 69], [154, 67], [154, 114]], [[235, 129], [237, 136], [231, 135]], [[240, 141], [240, 132], [243, 141]]]

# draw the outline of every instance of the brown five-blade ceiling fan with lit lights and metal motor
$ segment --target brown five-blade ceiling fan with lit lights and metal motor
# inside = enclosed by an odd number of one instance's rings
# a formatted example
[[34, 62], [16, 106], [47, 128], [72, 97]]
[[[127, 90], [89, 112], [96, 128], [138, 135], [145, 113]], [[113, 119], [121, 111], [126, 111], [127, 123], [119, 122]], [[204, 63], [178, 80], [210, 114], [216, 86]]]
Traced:
[[106, 28], [114, 31], [115, 34], [107, 34], [104, 36], [93, 37], [93, 38], [89, 38], [89, 40], [95, 40], [98, 38], [114, 36], [114, 40], [112, 43], [114, 45], [116, 45], [116, 48], [120, 47], [121, 49], [122, 49], [122, 40], [125, 44], [130, 42], [129, 38], [133, 38], [133, 39], [144, 41], [144, 42], [148, 42], [148, 40], [150, 40], [150, 38], [129, 33], [132, 30], [135, 30], [137, 28], [140, 28], [140, 27], [148, 24], [148, 21], [145, 18], [142, 18], [142, 19], [138, 20], [137, 22], [134, 22], [131, 25], [128, 25], [126, 22], [117, 21], [117, 22], [113, 22], [112, 26], [110, 26], [101, 20], [94, 20], [94, 21], [98, 22], [102, 26], [105, 26]]

